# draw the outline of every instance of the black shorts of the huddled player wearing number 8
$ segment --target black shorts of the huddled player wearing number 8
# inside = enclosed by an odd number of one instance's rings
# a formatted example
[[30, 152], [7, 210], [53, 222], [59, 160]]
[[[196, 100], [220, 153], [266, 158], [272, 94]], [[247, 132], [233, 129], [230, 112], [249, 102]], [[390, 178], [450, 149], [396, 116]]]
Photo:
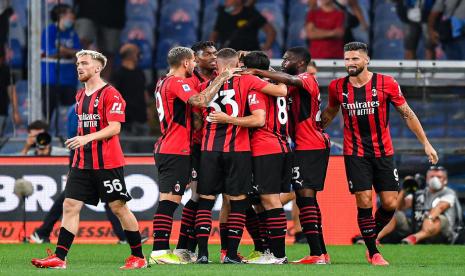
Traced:
[[290, 192], [292, 156], [278, 153], [256, 156], [253, 162], [253, 189], [260, 195]]

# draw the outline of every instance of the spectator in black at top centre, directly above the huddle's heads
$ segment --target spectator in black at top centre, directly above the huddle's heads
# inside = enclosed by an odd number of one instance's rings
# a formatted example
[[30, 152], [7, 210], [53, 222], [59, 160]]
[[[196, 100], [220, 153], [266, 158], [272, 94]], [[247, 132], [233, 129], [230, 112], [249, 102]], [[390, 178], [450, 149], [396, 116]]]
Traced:
[[[266, 41], [261, 46], [258, 42], [260, 29], [266, 35]], [[226, 0], [224, 6], [218, 8], [218, 16], [210, 40], [218, 42], [220, 48], [267, 51], [273, 45], [275, 37], [275, 29], [257, 11], [253, 3], [244, 6], [243, 0]]]

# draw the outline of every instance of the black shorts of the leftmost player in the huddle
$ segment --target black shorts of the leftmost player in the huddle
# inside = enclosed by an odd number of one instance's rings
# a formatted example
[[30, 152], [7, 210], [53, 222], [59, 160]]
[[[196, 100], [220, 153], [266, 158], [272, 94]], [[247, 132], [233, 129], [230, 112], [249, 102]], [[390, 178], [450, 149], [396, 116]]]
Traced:
[[191, 174], [190, 159], [189, 155], [155, 153], [160, 193], [184, 194]]

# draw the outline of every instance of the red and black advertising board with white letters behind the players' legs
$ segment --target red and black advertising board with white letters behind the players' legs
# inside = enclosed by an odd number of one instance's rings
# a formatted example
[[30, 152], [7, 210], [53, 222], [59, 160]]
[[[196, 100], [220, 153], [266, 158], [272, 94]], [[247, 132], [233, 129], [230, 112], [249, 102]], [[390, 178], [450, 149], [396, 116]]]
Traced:
[[[26, 236], [29, 236], [41, 224], [45, 213], [50, 210], [53, 200], [64, 189], [68, 171], [67, 157], [0, 157], [0, 243], [16, 243], [24, 236], [22, 230], [22, 200], [14, 193], [15, 179], [25, 178], [33, 183], [34, 193], [26, 199]], [[139, 220], [143, 233], [151, 236], [152, 217], [158, 202], [157, 173], [152, 157], [126, 157], [125, 181], [133, 196], [128, 205]], [[182, 202], [190, 198], [188, 191]], [[331, 156], [325, 190], [318, 194], [318, 201], [323, 213], [323, 229], [328, 244], [350, 244], [351, 238], [359, 233], [356, 223], [355, 200], [347, 187], [344, 160], [342, 156]], [[221, 198], [214, 207], [214, 222], [211, 236], [212, 243], [219, 242], [218, 211]], [[290, 204], [288, 211], [288, 234], [286, 241], [293, 241]], [[172, 242], [176, 242], [179, 231], [181, 208], [175, 214]], [[56, 241], [59, 223], [51, 235]], [[244, 232], [244, 242], [251, 239]], [[81, 213], [81, 224], [76, 238], [78, 243], [114, 243], [117, 239], [106, 219], [104, 207], [86, 205]]]

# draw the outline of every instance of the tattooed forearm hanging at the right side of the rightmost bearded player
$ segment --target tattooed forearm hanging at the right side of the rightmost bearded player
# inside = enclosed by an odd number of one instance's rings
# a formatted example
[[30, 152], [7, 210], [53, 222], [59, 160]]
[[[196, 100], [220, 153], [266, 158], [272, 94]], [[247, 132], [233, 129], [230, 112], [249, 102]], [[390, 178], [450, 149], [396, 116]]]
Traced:
[[417, 118], [417, 115], [413, 112], [410, 106], [407, 103], [404, 103], [400, 106], [396, 106], [397, 111], [400, 113], [404, 119], [407, 127], [415, 133], [418, 141], [424, 146], [425, 153], [428, 156], [428, 159], [431, 163], [436, 164], [438, 162], [438, 154], [433, 146], [428, 141], [426, 134], [421, 126], [420, 121]]

